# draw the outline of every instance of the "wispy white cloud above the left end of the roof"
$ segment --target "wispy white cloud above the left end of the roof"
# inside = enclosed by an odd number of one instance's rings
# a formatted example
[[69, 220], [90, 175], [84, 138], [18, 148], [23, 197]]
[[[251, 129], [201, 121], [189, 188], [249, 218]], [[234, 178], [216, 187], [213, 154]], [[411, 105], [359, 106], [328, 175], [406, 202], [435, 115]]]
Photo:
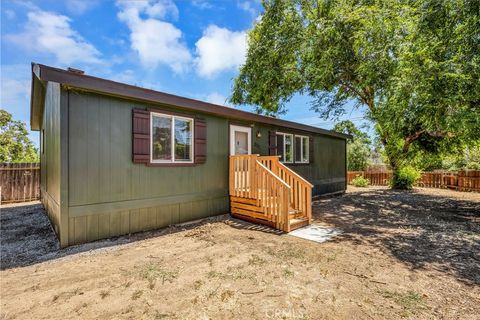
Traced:
[[101, 63], [100, 52], [73, 30], [67, 16], [42, 10], [30, 11], [24, 31], [6, 38], [19, 46], [52, 54], [60, 64]]

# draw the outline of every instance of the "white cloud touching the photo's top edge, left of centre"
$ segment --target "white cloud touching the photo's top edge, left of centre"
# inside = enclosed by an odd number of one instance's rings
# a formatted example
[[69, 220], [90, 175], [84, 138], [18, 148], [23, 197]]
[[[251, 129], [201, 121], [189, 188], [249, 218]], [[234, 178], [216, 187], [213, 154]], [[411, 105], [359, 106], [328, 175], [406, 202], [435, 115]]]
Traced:
[[[130, 29], [130, 46], [138, 53], [142, 65], [156, 68], [159, 64], [170, 66], [181, 73], [192, 59], [182, 43], [182, 32], [169, 22], [167, 16], [178, 18], [178, 9], [171, 1], [118, 1], [118, 18]], [[142, 18], [142, 14], [147, 18]]]

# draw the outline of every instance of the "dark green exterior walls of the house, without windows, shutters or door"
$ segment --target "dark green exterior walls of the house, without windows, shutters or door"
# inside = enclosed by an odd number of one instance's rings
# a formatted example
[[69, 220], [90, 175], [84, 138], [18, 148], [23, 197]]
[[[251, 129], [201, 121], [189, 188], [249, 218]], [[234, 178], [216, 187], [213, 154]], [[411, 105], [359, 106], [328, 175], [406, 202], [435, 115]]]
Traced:
[[[64, 246], [157, 229], [229, 211], [229, 125], [252, 128], [252, 152], [268, 155], [270, 130], [312, 133], [60, 89], [47, 84], [42, 201]], [[202, 117], [207, 162], [148, 167], [132, 162], [132, 109]], [[260, 137], [257, 137], [260, 132]], [[315, 135], [314, 162], [289, 165], [315, 185], [313, 194], [345, 189], [345, 141]]]

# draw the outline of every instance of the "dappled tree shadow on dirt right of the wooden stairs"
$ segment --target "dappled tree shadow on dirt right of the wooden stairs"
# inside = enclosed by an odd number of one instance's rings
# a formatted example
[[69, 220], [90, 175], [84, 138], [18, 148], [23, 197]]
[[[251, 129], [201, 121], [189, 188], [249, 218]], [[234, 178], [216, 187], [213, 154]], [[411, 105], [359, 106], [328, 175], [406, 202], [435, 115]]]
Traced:
[[343, 230], [335, 241], [381, 246], [413, 269], [480, 284], [480, 202], [416, 191], [366, 189], [314, 203], [314, 218]]

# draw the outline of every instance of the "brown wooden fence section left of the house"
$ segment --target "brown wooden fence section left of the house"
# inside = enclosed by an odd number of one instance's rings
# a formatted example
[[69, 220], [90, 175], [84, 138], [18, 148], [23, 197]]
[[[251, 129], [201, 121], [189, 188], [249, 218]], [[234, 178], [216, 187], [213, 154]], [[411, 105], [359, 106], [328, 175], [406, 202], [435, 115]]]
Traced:
[[0, 202], [40, 199], [39, 163], [0, 163]]

